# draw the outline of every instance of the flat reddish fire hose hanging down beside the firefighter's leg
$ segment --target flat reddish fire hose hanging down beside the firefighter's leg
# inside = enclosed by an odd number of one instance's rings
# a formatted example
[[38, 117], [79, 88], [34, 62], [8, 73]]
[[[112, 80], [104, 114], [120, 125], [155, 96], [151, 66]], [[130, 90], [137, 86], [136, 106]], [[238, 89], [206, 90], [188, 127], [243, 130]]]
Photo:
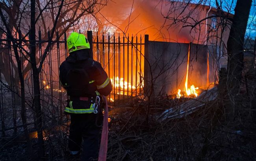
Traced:
[[101, 133], [98, 161], [106, 161], [108, 151], [108, 102], [105, 96], [103, 96], [103, 99], [105, 100], [106, 106], [104, 110], [103, 128]]

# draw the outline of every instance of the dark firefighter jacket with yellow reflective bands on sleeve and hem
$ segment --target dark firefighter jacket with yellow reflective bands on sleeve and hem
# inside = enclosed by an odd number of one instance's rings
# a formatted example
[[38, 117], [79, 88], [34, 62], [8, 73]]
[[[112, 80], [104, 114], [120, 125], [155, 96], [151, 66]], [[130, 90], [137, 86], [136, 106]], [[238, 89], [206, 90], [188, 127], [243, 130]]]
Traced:
[[[81, 70], [76, 74], [70, 72], [73, 69]], [[59, 67], [59, 80], [70, 96], [65, 108], [67, 113], [93, 113], [96, 96], [107, 96], [112, 90], [101, 64], [89, 58], [89, 49], [74, 51], [67, 57]]]

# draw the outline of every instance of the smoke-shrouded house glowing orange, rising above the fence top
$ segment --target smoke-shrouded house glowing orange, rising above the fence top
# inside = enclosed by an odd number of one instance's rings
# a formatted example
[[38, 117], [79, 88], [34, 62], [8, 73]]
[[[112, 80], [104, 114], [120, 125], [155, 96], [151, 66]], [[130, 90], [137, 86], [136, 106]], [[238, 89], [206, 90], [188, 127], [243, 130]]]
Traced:
[[[217, 37], [222, 34], [226, 44], [230, 23], [223, 19], [225, 23], [220, 25], [219, 14], [226, 16], [224, 18], [232, 17], [230, 13], [220, 13], [208, 5], [169, 0], [119, 0], [109, 2], [97, 17], [102, 15], [105, 21], [111, 22], [109, 32], [147, 34], [151, 41], [195, 44], [205, 44], [207, 41], [208, 44], [216, 44]], [[104, 18], [100, 19], [104, 21]], [[198, 26], [191, 29], [196, 23]]]

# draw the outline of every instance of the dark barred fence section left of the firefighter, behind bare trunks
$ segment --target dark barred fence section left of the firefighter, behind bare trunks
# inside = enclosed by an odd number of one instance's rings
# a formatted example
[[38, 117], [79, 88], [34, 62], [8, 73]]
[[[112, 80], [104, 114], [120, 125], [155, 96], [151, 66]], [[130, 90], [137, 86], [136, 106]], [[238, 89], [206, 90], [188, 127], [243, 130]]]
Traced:
[[[21, 31], [16, 34], [15, 41], [23, 49], [19, 48], [19, 56], [22, 65], [22, 73], [25, 81], [25, 97], [26, 97], [26, 117], [27, 125], [34, 124], [35, 110], [33, 107], [33, 80], [31, 64], [25, 51], [29, 51], [29, 40], [22, 38]], [[42, 39], [41, 31], [38, 32], [36, 40], [37, 62], [41, 61], [42, 53], [49, 42], [50, 32], [44, 35]], [[66, 34], [59, 37], [58, 31], [54, 41], [51, 41], [49, 53], [43, 64], [40, 73], [41, 88], [41, 105], [44, 117], [52, 119], [61, 119], [63, 116], [63, 108], [65, 106], [65, 91], [59, 84], [59, 65], [67, 57]], [[0, 40], [0, 113], [1, 113], [1, 131], [2, 135], [14, 132], [22, 128], [20, 119], [20, 84], [17, 70], [17, 62], [14, 56], [12, 43], [7, 38]], [[10, 108], [11, 107], [11, 108]], [[12, 113], [12, 115], [11, 115]], [[53, 120], [51, 120], [53, 121]], [[22, 131], [22, 130], [21, 130]]]

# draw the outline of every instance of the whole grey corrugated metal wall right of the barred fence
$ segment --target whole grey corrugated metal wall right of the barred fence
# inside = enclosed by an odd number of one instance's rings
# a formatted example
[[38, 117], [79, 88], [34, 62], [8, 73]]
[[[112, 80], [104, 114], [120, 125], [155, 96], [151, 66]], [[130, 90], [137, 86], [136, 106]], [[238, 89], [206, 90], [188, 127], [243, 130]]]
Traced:
[[[149, 82], [153, 82], [154, 97], [176, 95], [178, 89], [184, 90], [187, 72], [189, 44], [173, 42], [148, 42], [148, 59], [151, 71]], [[189, 58], [188, 85], [207, 88], [207, 57], [209, 52], [210, 76], [214, 81], [214, 52], [207, 46], [191, 44]], [[150, 75], [152, 73], [152, 77]]]

